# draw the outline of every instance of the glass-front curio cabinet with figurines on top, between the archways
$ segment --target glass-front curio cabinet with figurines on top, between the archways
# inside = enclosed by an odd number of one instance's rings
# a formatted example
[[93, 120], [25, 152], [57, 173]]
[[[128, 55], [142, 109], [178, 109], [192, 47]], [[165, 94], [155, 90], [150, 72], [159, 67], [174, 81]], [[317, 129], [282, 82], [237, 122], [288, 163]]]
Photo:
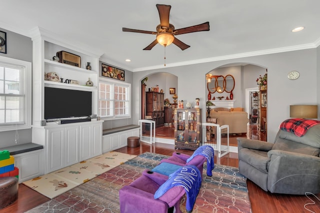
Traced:
[[175, 148], [196, 150], [201, 143], [201, 109], [174, 109]]

